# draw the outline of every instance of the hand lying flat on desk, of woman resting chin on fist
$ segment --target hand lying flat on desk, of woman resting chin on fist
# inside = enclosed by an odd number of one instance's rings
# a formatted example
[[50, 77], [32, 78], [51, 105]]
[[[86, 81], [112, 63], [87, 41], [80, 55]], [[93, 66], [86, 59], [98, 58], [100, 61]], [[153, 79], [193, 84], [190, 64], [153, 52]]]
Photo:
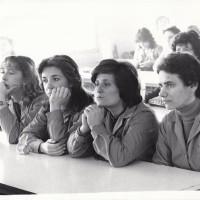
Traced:
[[64, 154], [65, 149], [64, 144], [60, 144], [53, 139], [48, 139], [40, 145], [40, 152], [51, 156], [61, 156]]

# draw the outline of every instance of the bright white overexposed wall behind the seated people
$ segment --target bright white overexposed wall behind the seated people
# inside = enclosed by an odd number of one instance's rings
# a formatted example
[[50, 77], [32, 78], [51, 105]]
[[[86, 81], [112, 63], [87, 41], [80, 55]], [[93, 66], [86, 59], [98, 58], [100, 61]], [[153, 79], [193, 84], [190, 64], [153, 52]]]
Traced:
[[[0, 1], [0, 36], [13, 39], [17, 54], [36, 63], [68, 54], [80, 67], [133, 51], [138, 28], [149, 28], [158, 42], [156, 19], [167, 16], [182, 30], [200, 27], [198, 0], [6, 0]], [[115, 49], [115, 50], [116, 50]], [[116, 53], [116, 52], [115, 52]]]

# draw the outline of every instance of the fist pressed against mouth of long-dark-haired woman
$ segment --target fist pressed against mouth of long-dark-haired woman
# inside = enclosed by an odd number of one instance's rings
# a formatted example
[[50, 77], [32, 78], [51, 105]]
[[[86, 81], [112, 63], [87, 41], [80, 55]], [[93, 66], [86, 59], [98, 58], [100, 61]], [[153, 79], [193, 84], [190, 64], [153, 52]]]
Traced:
[[71, 92], [68, 88], [57, 87], [52, 90], [49, 98], [50, 111], [59, 110], [61, 106], [67, 105], [71, 96]]

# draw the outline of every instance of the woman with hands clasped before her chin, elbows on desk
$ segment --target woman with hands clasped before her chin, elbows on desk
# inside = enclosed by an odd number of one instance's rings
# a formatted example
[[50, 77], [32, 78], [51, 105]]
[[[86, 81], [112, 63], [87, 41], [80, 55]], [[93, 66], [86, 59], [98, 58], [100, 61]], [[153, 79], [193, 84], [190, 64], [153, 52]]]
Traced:
[[96, 105], [85, 108], [82, 125], [68, 140], [71, 157], [99, 155], [113, 167], [134, 160], [151, 161], [158, 123], [142, 102], [133, 65], [103, 60], [92, 72]]

